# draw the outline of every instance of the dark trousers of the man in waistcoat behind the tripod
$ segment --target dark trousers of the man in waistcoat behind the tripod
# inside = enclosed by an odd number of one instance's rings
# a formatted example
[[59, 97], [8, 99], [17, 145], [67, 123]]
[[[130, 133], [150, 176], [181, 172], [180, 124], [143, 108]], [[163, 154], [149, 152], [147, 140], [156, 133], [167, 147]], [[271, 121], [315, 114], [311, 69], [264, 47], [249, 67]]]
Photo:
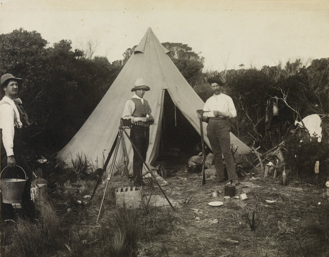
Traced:
[[[144, 127], [142, 125], [134, 125], [130, 129], [131, 141], [135, 144], [137, 151], [146, 160], [146, 154], [148, 149], [148, 144], [150, 140], [150, 128]], [[133, 159], [133, 172], [135, 182], [142, 181], [142, 168], [143, 160], [140, 159], [136, 150], [134, 149], [134, 159]]]

